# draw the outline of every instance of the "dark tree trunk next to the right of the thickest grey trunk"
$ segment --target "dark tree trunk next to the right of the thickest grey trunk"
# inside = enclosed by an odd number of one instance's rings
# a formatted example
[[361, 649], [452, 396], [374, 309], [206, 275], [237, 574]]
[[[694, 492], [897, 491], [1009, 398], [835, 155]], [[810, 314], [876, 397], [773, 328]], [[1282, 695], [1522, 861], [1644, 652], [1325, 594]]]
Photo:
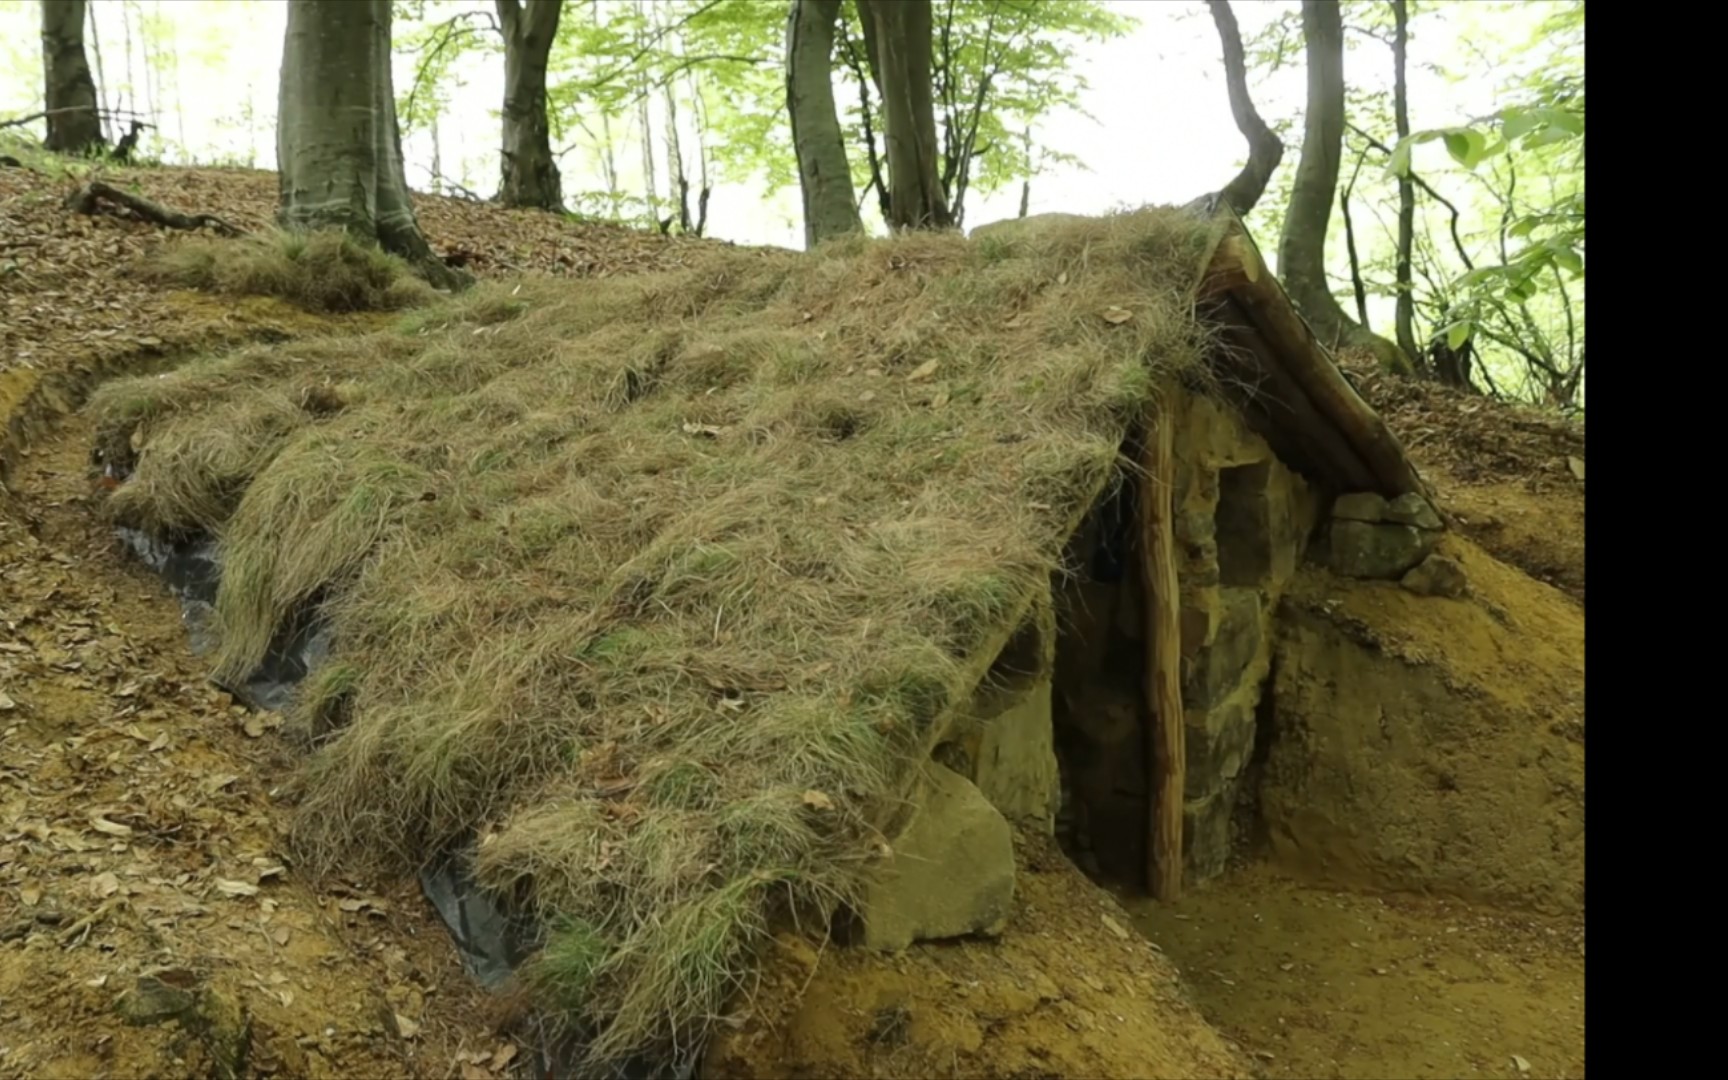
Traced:
[[563, 181], [546, 124], [546, 64], [563, 0], [496, 0], [505, 31], [505, 206], [563, 209]]

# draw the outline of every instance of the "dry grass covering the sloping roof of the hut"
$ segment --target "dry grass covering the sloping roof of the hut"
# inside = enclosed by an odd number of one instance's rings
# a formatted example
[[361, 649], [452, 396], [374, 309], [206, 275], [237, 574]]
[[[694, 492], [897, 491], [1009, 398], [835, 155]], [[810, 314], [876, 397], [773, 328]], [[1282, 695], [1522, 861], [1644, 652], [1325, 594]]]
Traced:
[[107, 387], [114, 508], [219, 536], [225, 672], [332, 620], [309, 866], [479, 833], [551, 928], [541, 1004], [596, 1059], [689, 1045], [776, 911], [857, 897], [1123, 432], [1201, 370], [1204, 244], [1146, 211], [480, 285]]

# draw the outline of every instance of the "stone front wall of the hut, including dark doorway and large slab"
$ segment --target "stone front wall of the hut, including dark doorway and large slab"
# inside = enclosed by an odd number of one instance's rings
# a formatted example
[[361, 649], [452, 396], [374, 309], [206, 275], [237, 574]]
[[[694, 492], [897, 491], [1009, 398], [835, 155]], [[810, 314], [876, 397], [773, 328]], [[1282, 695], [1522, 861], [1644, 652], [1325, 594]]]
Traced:
[[[1306, 484], [1234, 413], [1175, 392], [1189, 874], [1223, 871], [1272, 665], [1272, 612], [1308, 544]], [[961, 708], [892, 829], [862, 943], [995, 933], [1013, 897], [1011, 826], [1061, 833], [1083, 869], [1146, 876], [1146, 641], [1132, 486], [1109, 492]], [[1058, 762], [1061, 762], [1058, 766]], [[935, 807], [947, 807], [940, 812]]]

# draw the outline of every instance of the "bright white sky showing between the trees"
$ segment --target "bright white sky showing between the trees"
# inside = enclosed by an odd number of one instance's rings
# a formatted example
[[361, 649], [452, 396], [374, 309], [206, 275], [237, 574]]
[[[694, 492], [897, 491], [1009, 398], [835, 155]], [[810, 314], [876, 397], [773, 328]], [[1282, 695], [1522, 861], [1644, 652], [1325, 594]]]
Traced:
[[[275, 97], [282, 59], [283, 0], [92, 0], [102, 50], [104, 83], [111, 105], [128, 104], [154, 112], [162, 135], [183, 143], [200, 161], [252, 161], [275, 168]], [[489, 0], [472, 0], [491, 7]], [[759, 0], [779, 5], [783, 0]], [[1087, 168], [1064, 168], [1032, 185], [1032, 213], [1104, 213], [1147, 202], [1185, 202], [1217, 190], [1234, 173], [1244, 143], [1230, 118], [1223, 88], [1218, 38], [1201, 3], [1180, 0], [1109, 0], [1140, 21], [1130, 36], [1089, 47], [1082, 55], [1090, 81], [1085, 107], [1096, 118], [1045, 118], [1035, 137], [1078, 156]], [[1453, 10], [1465, 7], [1452, 0]], [[1244, 36], [1265, 26], [1294, 0], [1237, 0]], [[1448, 5], [1452, 7], [1452, 5]], [[1474, 7], [1474, 5], [1471, 5]], [[1540, 5], [1528, 5], [1531, 21]], [[1450, 14], [1450, 12], [1448, 12]], [[1460, 12], [1462, 16], [1464, 12]], [[1524, 14], [1524, 12], [1519, 12]], [[0, 118], [40, 109], [41, 60], [36, 0], [0, 0]], [[161, 54], [145, 78], [142, 24], [154, 21]], [[1455, 85], [1429, 73], [1424, 60], [1455, 57], [1464, 45], [1469, 17], [1426, 22], [1412, 41], [1410, 97], [1415, 128], [1457, 123], [1495, 107], [1493, 86]], [[131, 50], [128, 54], [128, 40]], [[86, 41], [86, 48], [88, 48]], [[128, 62], [130, 55], [130, 62]], [[95, 64], [92, 54], [92, 64]], [[1370, 67], [1372, 66], [1372, 67]], [[477, 192], [496, 188], [496, 109], [503, 95], [503, 62], [473, 57], [461, 71], [465, 88], [441, 124], [446, 175], [461, 176]], [[1389, 55], [1372, 41], [1346, 59], [1353, 85], [1382, 85], [1391, 76]], [[397, 60], [397, 90], [411, 78], [411, 60]], [[1303, 97], [1301, 66], [1289, 66], [1253, 86], [1255, 100], [1270, 118], [1294, 116]], [[178, 104], [178, 109], [176, 109]], [[624, 124], [627, 126], [627, 124]], [[169, 161], [178, 147], [150, 147]], [[425, 187], [432, 143], [415, 135], [404, 145], [410, 183]], [[639, 150], [619, 154], [620, 166], [639, 168]], [[1291, 159], [1293, 161], [1293, 159]], [[1420, 161], [1419, 161], [1420, 164]], [[1286, 166], [1287, 168], [1287, 166]], [[563, 162], [567, 188], [600, 188], [593, 166]], [[639, 190], [639, 171], [624, 176]], [[976, 197], [975, 197], [976, 199]], [[1018, 211], [1020, 192], [1002, 190], [976, 199], [968, 223], [982, 225]], [[746, 244], [802, 244], [797, 194], [779, 192], [764, 200], [760, 188], [722, 187], [710, 206], [712, 235]]]

